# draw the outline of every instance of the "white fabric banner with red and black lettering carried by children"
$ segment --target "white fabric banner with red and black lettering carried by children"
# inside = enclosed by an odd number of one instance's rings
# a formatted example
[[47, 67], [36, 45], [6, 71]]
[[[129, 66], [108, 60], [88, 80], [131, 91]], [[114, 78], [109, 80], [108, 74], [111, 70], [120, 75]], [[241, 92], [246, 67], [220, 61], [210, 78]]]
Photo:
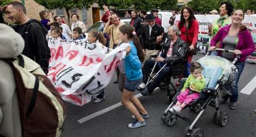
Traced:
[[111, 80], [129, 44], [109, 49], [100, 43], [48, 41], [51, 49], [48, 78], [67, 102], [82, 106], [90, 102]]

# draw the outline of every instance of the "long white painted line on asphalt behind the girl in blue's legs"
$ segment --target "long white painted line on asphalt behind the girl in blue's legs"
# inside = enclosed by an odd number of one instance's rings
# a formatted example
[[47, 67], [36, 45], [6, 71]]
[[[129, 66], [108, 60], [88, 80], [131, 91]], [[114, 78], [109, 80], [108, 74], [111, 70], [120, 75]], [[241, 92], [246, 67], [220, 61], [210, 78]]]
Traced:
[[[135, 95], [135, 97], [137, 97], [137, 98], [140, 98], [141, 96], [142, 96], [142, 94], [140, 94], [140, 93]], [[91, 115], [83, 117], [77, 121], [79, 123], [87, 122], [88, 120], [90, 120], [92, 118], [98, 117], [99, 115], [105, 114], [106, 112], [109, 112], [110, 110], [116, 109], [116, 107], [120, 107], [120, 106], [122, 106], [122, 103], [118, 102], [118, 103], [114, 104], [113, 106], [107, 107], [106, 109], [102, 109], [102, 110], [95, 112]]]

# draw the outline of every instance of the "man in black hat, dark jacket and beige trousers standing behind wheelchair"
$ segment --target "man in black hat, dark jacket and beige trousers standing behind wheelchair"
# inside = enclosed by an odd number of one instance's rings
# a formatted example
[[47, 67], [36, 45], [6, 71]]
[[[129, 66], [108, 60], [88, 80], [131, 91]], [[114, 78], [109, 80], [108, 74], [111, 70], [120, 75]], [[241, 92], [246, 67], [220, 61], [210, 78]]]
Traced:
[[143, 26], [141, 33], [141, 44], [143, 48], [143, 53], [145, 54], [145, 60], [147, 60], [150, 55], [158, 54], [160, 51], [160, 40], [163, 39], [164, 28], [155, 23], [155, 17], [153, 14], [148, 14], [145, 18], [145, 22], [148, 24]]

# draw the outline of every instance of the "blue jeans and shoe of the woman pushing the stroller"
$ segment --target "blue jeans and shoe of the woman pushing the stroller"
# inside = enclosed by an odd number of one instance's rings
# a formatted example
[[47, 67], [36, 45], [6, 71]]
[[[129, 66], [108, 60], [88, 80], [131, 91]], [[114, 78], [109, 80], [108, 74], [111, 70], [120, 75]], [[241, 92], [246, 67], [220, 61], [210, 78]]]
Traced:
[[228, 99], [230, 102], [237, 102], [238, 101], [238, 81], [241, 76], [242, 70], [244, 70], [245, 62], [237, 62], [236, 64], [238, 72], [234, 75], [234, 81], [229, 85], [229, 90], [231, 91], [232, 95], [226, 95], [223, 98]]

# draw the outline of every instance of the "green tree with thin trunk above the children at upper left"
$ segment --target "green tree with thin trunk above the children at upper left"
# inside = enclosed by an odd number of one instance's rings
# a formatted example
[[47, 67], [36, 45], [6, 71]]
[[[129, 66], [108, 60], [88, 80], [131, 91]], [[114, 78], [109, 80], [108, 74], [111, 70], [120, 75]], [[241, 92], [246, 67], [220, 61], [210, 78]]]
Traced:
[[41, 6], [45, 6], [46, 9], [62, 9], [64, 8], [67, 13], [68, 23], [70, 22], [70, 9], [82, 9], [83, 7], [89, 8], [93, 1], [90, 0], [35, 0]]

